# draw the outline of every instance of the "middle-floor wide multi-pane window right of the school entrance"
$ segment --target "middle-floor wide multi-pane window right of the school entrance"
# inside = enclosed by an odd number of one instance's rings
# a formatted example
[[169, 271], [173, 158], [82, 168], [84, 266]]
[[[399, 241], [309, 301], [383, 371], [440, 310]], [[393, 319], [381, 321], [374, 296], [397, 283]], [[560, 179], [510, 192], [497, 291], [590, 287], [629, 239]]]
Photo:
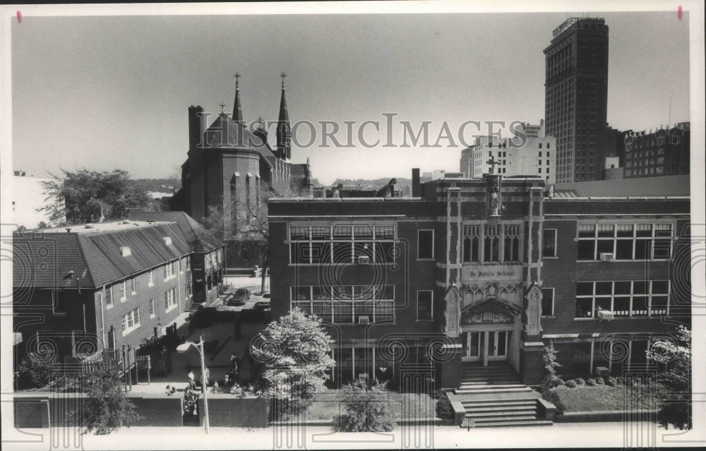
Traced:
[[616, 317], [669, 315], [669, 281], [577, 282], [575, 318], [596, 318], [601, 310]]

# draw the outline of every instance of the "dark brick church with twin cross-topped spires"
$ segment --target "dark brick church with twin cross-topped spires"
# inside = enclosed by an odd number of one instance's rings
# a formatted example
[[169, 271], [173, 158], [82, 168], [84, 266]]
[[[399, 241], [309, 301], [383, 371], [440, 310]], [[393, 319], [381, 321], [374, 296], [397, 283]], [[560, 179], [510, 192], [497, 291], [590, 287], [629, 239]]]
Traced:
[[[292, 133], [282, 73], [276, 148], [268, 143], [262, 118], [246, 123], [236, 73], [232, 114], [221, 112], [210, 126], [209, 113], [200, 105], [189, 107], [189, 151], [181, 164], [181, 189], [169, 200], [169, 210], [184, 211], [199, 222], [215, 214], [225, 229], [238, 217], [256, 217], [270, 196], [309, 193], [311, 168], [293, 164]], [[265, 211], [266, 215], [266, 211]], [[212, 218], [213, 219], [213, 218]], [[229, 267], [262, 265], [256, 243], [225, 236]]]

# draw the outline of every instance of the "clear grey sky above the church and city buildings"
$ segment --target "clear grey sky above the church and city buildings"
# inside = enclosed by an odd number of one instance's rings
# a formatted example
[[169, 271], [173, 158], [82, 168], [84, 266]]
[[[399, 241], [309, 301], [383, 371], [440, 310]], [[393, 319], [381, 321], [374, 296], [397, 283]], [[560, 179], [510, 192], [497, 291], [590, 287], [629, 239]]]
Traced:
[[[275, 121], [280, 78], [297, 130], [293, 162], [313, 176], [409, 177], [412, 167], [458, 170], [465, 121], [544, 117], [544, 54], [551, 32], [577, 13], [439, 13], [278, 16], [88, 16], [13, 20], [13, 169], [126, 169], [135, 178], [177, 174], [188, 150], [187, 108], [230, 112], [242, 74], [246, 121]], [[587, 13], [609, 25], [608, 120], [621, 130], [689, 121], [688, 13]], [[387, 119], [393, 117], [393, 147]], [[322, 148], [333, 121], [353, 148]], [[381, 143], [364, 148], [364, 140]], [[444, 124], [454, 143], [402, 148], [404, 127]], [[329, 126], [330, 128], [331, 126]], [[484, 126], [486, 127], [486, 126]], [[498, 127], [496, 126], [496, 129]], [[465, 129], [472, 143], [474, 126]], [[274, 127], [270, 128], [274, 145]], [[421, 144], [421, 143], [418, 143]], [[450, 147], [451, 144], [455, 144]]]

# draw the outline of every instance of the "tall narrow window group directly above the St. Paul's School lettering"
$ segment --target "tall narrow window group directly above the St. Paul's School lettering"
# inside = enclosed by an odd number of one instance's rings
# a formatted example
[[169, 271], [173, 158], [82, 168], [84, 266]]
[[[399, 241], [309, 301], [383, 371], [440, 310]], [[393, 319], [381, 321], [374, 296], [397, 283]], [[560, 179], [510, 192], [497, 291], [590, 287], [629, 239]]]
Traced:
[[522, 224], [464, 224], [462, 258], [464, 263], [520, 263]]

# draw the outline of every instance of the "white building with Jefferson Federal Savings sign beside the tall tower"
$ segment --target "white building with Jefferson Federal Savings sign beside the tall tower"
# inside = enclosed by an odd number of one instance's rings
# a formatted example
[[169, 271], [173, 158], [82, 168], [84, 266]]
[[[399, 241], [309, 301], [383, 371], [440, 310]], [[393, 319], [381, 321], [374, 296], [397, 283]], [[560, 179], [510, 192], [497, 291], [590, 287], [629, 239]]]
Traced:
[[544, 121], [539, 125], [520, 124], [513, 138], [479, 136], [475, 145], [461, 151], [460, 172], [472, 179], [481, 179], [483, 174], [491, 172], [503, 176], [541, 177], [553, 184], [556, 181], [556, 139], [546, 136]]

